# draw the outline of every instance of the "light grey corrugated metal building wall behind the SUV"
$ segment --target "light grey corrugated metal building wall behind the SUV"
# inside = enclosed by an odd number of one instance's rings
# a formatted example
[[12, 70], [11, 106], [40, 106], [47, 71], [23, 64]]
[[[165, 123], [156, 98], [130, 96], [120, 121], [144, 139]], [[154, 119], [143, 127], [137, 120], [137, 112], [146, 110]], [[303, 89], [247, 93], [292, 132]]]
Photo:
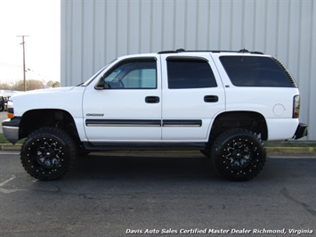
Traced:
[[316, 140], [314, 0], [61, 1], [61, 86], [84, 82], [118, 56], [177, 48], [277, 57], [296, 78], [300, 120]]

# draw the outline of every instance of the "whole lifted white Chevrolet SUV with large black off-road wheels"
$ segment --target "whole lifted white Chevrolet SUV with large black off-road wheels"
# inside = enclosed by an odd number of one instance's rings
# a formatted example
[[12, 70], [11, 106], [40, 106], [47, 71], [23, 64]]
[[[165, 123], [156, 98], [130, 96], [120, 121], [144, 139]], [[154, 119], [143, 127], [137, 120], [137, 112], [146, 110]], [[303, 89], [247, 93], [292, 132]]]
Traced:
[[78, 151], [199, 150], [223, 176], [253, 178], [264, 140], [298, 139], [299, 91], [263, 53], [168, 51], [120, 57], [84, 84], [12, 96], [4, 135], [27, 137], [31, 176], [62, 176]]

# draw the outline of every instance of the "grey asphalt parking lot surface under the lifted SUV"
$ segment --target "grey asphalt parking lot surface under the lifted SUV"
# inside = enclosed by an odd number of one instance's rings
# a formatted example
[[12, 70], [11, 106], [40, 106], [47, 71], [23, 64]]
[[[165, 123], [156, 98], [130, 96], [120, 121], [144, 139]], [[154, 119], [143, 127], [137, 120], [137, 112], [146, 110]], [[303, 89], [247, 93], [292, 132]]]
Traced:
[[315, 196], [314, 155], [272, 157], [231, 182], [197, 153], [92, 153], [41, 182], [0, 151], [1, 236], [312, 235]]

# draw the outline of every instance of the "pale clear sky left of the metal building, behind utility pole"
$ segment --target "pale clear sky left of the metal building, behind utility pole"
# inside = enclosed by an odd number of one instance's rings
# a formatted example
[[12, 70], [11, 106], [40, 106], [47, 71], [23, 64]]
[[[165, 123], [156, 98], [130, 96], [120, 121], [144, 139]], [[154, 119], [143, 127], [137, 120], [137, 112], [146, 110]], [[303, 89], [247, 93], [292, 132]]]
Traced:
[[0, 82], [61, 80], [61, 1], [0, 0]]

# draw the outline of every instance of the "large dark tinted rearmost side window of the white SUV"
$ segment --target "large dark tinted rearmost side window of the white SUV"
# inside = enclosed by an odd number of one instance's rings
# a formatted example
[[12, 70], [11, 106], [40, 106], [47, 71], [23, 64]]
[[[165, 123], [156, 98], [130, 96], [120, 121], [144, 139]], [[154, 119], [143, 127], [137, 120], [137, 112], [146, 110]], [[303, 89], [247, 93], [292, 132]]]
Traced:
[[234, 86], [296, 87], [288, 70], [274, 58], [241, 55], [220, 60]]

